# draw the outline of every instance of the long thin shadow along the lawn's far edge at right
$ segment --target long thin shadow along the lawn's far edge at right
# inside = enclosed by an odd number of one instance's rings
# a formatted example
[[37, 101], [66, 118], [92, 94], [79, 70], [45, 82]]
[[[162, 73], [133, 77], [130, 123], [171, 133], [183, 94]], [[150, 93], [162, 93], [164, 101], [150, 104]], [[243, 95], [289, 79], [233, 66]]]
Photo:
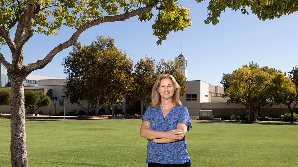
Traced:
[[198, 121], [198, 123], [236, 123], [236, 124], [247, 124], [247, 125], [298, 125], [298, 123], [291, 124], [290, 122], [258, 122], [254, 121], [254, 123], [246, 123], [246, 121]]

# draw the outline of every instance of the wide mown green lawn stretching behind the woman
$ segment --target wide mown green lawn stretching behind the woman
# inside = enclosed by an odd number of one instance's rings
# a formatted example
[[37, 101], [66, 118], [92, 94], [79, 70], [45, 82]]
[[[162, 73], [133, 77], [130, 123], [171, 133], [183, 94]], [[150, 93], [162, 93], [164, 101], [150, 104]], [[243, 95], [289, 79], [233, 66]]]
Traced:
[[[141, 120], [26, 123], [30, 167], [145, 167]], [[193, 121], [186, 134], [194, 167], [298, 164], [298, 126]], [[10, 124], [0, 124], [0, 164], [10, 165]]]

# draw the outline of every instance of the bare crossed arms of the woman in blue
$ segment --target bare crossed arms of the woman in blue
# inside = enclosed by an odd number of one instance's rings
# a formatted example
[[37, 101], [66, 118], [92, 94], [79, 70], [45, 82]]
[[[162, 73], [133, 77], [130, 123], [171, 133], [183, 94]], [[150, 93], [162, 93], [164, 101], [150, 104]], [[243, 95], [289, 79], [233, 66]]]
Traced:
[[171, 131], [153, 131], [150, 129], [151, 123], [149, 121], [143, 121], [140, 129], [140, 135], [153, 143], [172, 143], [183, 139], [187, 132], [187, 125], [184, 123], [178, 123], [177, 128]]

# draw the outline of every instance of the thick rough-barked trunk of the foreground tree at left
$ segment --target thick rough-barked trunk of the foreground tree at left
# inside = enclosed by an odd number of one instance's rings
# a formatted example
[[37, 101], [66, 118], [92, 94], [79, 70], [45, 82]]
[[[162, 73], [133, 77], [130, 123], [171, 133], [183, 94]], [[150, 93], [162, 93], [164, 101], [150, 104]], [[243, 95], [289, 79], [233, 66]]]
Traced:
[[10, 158], [12, 167], [27, 167], [25, 126], [25, 74], [9, 75], [11, 83]]

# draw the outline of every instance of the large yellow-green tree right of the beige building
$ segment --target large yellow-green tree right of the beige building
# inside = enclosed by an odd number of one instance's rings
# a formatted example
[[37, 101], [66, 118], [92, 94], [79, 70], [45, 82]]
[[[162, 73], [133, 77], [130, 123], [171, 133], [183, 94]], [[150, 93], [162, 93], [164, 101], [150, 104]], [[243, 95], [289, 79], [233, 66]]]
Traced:
[[244, 65], [233, 71], [232, 74], [225, 74], [221, 83], [226, 86], [223, 96], [229, 97], [227, 103], [245, 106], [247, 123], [252, 123], [253, 114], [257, 109], [280, 104], [280, 100], [275, 97], [278, 92], [285, 89], [286, 81], [284, 74], [273, 71], [269, 74], [264, 68], [252, 62], [249, 66]]

